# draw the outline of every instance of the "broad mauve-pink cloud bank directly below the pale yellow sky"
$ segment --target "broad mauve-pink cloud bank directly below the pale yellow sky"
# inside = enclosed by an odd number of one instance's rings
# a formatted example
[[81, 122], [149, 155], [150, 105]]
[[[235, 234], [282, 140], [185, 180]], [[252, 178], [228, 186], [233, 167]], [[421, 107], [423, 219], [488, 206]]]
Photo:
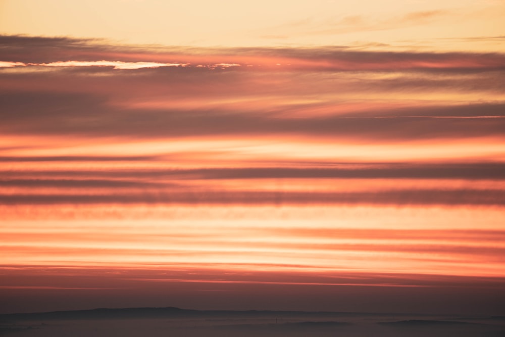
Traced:
[[7, 60], [0, 70], [5, 134], [502, 136], [502, 54], [0, 41]]

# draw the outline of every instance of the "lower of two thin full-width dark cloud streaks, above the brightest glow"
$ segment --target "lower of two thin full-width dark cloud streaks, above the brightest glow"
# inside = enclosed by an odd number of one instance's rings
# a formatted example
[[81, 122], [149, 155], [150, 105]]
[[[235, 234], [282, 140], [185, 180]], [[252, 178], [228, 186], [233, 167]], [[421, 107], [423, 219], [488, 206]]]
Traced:
[[1, 194], [4, 205], [51, 204], [349, 204], [349, 205], [505, 205], [501, 189], [496, 190], [386, 190], [374, 192], [269, 192], [205, 191], [146, 192], [118, 194]]

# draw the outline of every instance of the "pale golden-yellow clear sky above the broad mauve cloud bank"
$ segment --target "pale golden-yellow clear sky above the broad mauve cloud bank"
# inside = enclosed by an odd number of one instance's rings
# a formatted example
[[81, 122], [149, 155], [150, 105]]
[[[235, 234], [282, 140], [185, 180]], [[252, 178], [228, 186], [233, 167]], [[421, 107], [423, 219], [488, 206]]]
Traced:
[[[0, 30], [8, 34], [190, 46], [380, 42], [407, 49], [496, 51], [497, 46], [503, 49], [502, 41], [489, 38], [503, 35], [505, 15], [500, 0], [258, 0], [247, 4], [231, 0], [4, 0], [0, 6]], [[380, 43], [370, 46], [380, 48]]]

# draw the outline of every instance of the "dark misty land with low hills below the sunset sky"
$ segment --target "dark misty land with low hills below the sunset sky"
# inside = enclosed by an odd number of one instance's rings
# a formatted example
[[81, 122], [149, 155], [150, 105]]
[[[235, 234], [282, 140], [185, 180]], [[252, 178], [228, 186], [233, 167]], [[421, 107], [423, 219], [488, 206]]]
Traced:
[[505, 317], [406, 313], [98, 308], [0, 315], [13, 336], [502, 336]]

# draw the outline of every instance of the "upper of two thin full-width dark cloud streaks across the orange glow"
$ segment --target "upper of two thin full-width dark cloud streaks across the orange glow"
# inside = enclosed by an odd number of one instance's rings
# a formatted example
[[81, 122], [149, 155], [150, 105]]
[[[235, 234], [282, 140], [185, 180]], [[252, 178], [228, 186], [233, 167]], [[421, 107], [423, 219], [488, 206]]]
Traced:
[[[279, 162], [277, 164], [280, 164]], [[310, 163], [296, 163], [293, 165]], [[503, 163], [325, 163], [326, 165], [345, 165], [346, 168], [289, 168], [289, 167], [250, 167], [250, 168], [198, 168], [198, 169], [107, 169], [107, 170], [2, 170], [5, 178], [18, 177], [93, 177], [97, 178], [152, 178], [152, 179], [289, 179], [289, 178], [412, 178], [412, 179], [505, 179]], [[314, 165], [314, 164], [313, 164]]]

